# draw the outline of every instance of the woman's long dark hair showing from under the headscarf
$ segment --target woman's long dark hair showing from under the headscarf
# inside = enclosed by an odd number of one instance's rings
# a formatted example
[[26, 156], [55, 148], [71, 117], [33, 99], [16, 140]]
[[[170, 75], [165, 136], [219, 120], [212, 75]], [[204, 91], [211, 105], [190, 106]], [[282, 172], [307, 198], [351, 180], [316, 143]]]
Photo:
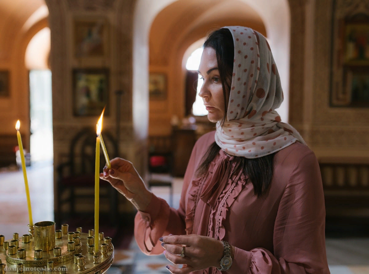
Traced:
[[[221, 125], [223, 126], [227, 115], [226, 99], [230, 94], [233, 73], [234, 44], [230, 30], [227, 28], [221, 28], [212, 32], [204, 43], [204, 48], [206, 47], [213, 48], [217, 54], [219, 76], [222, 82], [224, 95], [225, 114], [221, 122]], [[197, 168], [197, 176], [201, 176], [207, 172], [210, 163], [214, 160], [219, 151], [220, 147], [217, 143], [214, 142], [209, 146], [200, 166]], [[249, 180], [254, 185], [254, 194], [260, 197], [266, 193], [272, 181], [273, 159], [274, 153], [255, 159], [235, 156], [233, 161], [236, 165], [230, 177], [233, 177], [242, 171], [249, 177]]]

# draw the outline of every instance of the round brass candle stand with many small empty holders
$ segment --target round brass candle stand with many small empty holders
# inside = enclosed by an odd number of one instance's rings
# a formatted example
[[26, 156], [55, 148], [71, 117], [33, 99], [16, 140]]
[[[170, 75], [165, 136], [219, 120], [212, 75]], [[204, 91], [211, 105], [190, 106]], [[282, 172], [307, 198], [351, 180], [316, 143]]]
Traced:
[[0, 235], [0, 274], [66, 273], [102, 274], [113, 263], [114, 247], [110, 237], [99, 237], [99, 252], [94, 251], [94, 233], [68, 232], [68, 225], [55, 231], [55, 223], [38, 222], [29, 234], [5, 241]]

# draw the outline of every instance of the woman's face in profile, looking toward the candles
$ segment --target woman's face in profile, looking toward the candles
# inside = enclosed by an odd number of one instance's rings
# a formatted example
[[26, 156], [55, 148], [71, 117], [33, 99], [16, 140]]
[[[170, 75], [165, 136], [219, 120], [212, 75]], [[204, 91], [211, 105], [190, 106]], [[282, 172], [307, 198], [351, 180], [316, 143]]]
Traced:
[[224, 95], [215, 49], [204, 48], [201, 55], [199, 74], [204, 79], [199, 96], [203, 98], [208, 111], [208, 119], [210, 122], [221, 121], [225, 114]]

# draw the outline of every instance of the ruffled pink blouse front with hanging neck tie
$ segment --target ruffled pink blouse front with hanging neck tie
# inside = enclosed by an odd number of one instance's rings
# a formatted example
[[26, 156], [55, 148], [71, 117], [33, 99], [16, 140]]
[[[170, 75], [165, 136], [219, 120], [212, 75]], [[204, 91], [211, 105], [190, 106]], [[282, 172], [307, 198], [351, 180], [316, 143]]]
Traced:
[[[208, 170], [203, 176], [192, 180], [188, 189], [186, 208], [186, 233], [210, 236], [223, 240], [225, 228], [223, 221], [227, 211], [245, 186], [247, 178], [242, 171], [234, 173], [234, 156], [228, 155], [223, 150], [210, 163]], [[230, 174], [233, 174], [231, 177]], [[196, 211], [200, 203], [201, 209]], [[208, 219], [207, 231], [205, 227], [196, 223], [194, 219]]]

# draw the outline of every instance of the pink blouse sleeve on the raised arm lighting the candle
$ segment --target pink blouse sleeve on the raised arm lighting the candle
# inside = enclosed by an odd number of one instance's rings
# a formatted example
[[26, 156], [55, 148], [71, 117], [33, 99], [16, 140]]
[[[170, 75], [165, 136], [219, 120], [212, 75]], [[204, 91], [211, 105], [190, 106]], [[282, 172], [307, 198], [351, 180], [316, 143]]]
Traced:
[[164, 251], [159, 238], [169, 234], [186, 235], [185, 200], [188, 185], [195, 169], [197, 143], [194, 146], [186, 173], [184, 174], [179, 208], [169, 207], [168, 203], [152, 195], [152, 200], [145, 212], [138, 211], [135, 216], [134, 235], [136, 242], [146, 255], [158, 255]]

